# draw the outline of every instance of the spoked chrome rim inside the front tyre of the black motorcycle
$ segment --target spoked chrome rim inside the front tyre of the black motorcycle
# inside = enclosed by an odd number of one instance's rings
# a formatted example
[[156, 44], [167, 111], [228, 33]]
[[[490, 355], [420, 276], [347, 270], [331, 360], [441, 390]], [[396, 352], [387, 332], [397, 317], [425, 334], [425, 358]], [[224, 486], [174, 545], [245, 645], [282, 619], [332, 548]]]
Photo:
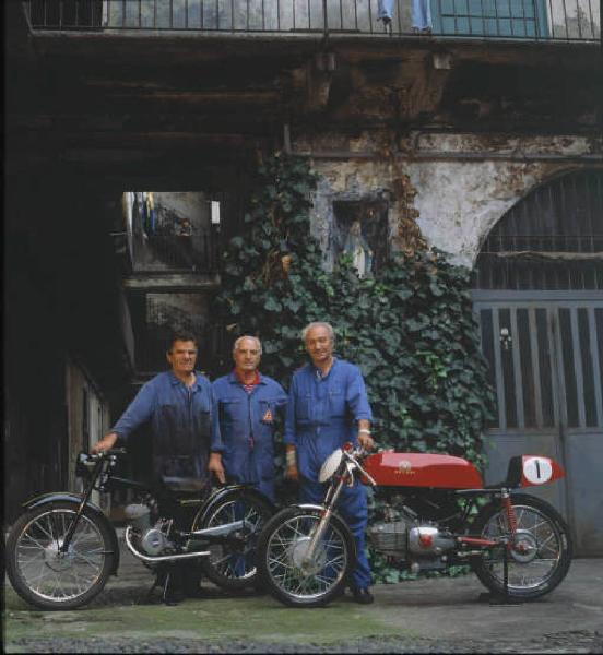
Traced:
[[27, 588], [45, 600], [78, 598], [103, 572], [105, 541], [98, 527], [84, 515], [78, 521], [68, 551], [60, 552], [74, 517], [74, 511], [49, 510], [29, 521], [16, 541], [19, 574]]

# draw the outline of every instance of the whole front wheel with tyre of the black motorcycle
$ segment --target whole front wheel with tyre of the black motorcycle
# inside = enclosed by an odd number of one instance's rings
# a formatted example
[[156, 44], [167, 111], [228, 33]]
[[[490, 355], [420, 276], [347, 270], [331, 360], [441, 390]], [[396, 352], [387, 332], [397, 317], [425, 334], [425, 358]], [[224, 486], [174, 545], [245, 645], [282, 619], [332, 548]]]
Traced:
[[14, 591], [40, 609], [66, 610], [90, 603], [114, 568], [110, 526], [84, 509], [68, 552], [58, 548], [78, 505], [54, 502], [22, 514], [7, 540], [7, 573]]

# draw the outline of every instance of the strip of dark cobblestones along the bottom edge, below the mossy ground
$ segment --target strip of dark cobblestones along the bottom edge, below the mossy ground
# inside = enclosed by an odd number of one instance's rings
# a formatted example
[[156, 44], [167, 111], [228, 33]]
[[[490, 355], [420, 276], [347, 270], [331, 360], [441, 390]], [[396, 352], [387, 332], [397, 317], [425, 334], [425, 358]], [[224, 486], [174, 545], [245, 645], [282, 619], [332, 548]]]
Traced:
[[428, 640], [363, 638], [338, 644], [274, 644], [229, 640], [133, 642], [131, 639], [22, 639], [10, 651], [23, 653], [603, 653], [603, 632], [567, 631], [537, 640]]

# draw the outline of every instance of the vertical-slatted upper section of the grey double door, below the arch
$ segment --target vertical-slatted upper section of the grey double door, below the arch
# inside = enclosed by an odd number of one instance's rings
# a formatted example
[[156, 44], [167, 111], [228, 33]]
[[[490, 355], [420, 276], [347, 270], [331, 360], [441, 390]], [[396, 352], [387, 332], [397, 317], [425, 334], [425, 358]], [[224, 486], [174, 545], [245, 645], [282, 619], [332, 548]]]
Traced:
[[476, 295], [501, 430], [603, 426], [603, 300]]

